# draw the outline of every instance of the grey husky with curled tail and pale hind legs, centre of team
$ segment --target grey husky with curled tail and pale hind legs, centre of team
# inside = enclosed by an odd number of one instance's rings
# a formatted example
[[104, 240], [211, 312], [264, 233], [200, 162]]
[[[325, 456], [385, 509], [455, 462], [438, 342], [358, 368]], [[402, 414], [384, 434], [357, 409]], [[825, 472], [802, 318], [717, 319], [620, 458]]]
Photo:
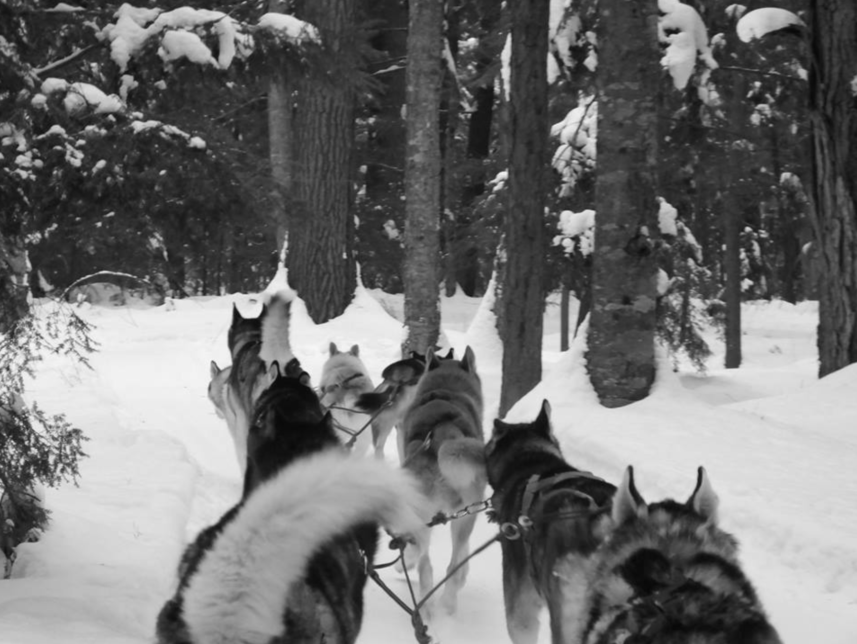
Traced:
[[[400, 427], [402, 468], [415, 475], [429, 499], [432, 512], [451, 513], [482, 500], [488, 483], [482, 437], [482, 383], [476, 358], [468, 347], [464, 359], [439, 360], [426, 355], [423, 377]], [[452, 521], [452, 558], [447, 574], [470, 553], [475, 515]], [[414, 534], [416, 543], [405, 548], [405, 566], [417, 564], [423, 597], [434, 584], [428, 558], [428, 526]], [[458, 591], [464, 586], [467, 564], [444, 584], [442, 608], [453, 613]]]

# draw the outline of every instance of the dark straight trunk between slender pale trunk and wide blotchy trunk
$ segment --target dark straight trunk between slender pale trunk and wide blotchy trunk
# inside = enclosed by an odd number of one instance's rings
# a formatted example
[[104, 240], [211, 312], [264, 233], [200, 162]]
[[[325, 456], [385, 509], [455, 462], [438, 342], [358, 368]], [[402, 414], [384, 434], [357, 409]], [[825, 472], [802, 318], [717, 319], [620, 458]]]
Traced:
[[512, 3], [509, 204], [500, 289], [500, 415], [542, 379], [545, 174], [548, 167], [549, 0]]

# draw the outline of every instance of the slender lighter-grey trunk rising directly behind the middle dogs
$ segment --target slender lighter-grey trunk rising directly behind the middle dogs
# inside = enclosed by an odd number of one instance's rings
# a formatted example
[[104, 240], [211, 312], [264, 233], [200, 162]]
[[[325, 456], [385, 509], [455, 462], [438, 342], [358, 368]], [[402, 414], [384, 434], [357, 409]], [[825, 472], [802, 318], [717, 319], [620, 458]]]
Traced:
[[405, 152], [405, 325], [424, 353], [440, 329], [440, 45], [443, 3], [414, 0], [408, 31]]

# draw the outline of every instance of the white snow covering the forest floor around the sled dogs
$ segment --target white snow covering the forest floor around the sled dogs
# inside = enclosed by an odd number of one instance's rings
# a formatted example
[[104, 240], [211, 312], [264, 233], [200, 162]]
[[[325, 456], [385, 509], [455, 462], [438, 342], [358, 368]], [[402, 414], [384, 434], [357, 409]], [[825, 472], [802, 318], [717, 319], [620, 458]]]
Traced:
[[[493, 293], [493, 290], [491, 291]], [[548, 299], [544, 379], [508, 414], [535, 417], [542, 398], [566, 458], [617, 481], [635, 466], [649, 500], [684, 499], [704, 464], [721, 500], [723, 528], [784, 644], [857, 641], [857, 365], [819, 380], [818, 305], [748, 302], [742, 310], [744, 363], [722, 369], [716, 333], [708, 373], [674, 373], [660, 355], [650, 397], [602, 408], [585, 373], [584, 333], [560, 353], [558, 298]], [[0, 581], [0, 639], [9, 644], [143, 644], [175, 585], [183, 546], [238, 498], [231, 439], [207, 400], [208, 363], [228, 364], [232, 303], [259, 312], [254, 295], [197, 297], [171, 307], [77, 311], [96, 325], [93, 371], [48, 357], [28, 396], [64, 412], [91, 439], [80, 486], [46, 492], [51, 527], [20, 546], [13, 579]], [[360, 289], [343, 316], [315, 325], [296, 301], [292, 346], [317, 380], [330, 341], [350, 346], [375, 379], [399, 357], [401, 296]], [[577, 304], [572, 304], [572, 319]], [[489, 432], [500, 391], [501, 349], [490, 301], [461, 294], [441, 302], [442, 325], [460, 354], [470, 343], [482, 377]], [[394, 459], [395, 440], [387, 442]], [[435, 567], [449, 556], [448, 528], [435, 528]], [[495, 532], [480, 516], [475, 549]], [[393, 558], [382, 541], [378, 561]], [[381, 571], [405, 596], [405, 581]], [[413, 641], [409, 618], [371, 582], [358, 642]], [[456, 616], [440, 615], [429, 634], [444, 644], [508, 641], [500, 548], [470, 563]], [[539, 644], [550, 640], [542, 621]]]

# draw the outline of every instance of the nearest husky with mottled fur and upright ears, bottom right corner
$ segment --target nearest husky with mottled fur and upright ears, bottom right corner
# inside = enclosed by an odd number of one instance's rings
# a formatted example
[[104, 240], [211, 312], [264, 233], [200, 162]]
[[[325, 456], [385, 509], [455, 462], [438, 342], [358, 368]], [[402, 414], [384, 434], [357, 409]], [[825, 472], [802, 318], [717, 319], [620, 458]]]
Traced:
[[612, 527], [589, 569], [560, 572], [579, 644], [782, 644], [751, 582], [738, 542], [717, 525], [718, 498], [704, 468], [683, 504], [647, 504], [628, 467]]

